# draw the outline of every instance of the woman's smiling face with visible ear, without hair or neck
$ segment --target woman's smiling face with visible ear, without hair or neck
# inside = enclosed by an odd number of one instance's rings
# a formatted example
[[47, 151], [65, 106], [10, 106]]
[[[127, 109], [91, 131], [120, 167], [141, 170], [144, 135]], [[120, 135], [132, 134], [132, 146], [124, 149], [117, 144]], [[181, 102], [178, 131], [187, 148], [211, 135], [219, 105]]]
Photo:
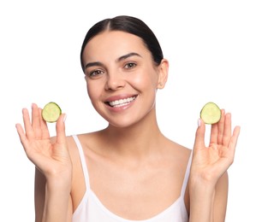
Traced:
[[101, 32], [86, 44], [82, 58], [92, 105], [110, 125], [130, 126], [154, 110], [168, 62], [156, 66], [141, 38]]

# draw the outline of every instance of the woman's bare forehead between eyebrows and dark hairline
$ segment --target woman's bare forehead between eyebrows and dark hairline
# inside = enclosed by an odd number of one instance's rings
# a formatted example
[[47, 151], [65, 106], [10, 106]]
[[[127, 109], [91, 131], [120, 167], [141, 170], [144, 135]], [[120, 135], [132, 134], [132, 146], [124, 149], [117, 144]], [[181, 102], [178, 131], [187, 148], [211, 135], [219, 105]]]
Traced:
[[140, 55], [148, 54], [142, 38], [122, 31], [104, 31], [93, 37], [83, 52], [84, 60], [94, 60], [95, 57], [108, 56], [119, 57], [130, 52]]

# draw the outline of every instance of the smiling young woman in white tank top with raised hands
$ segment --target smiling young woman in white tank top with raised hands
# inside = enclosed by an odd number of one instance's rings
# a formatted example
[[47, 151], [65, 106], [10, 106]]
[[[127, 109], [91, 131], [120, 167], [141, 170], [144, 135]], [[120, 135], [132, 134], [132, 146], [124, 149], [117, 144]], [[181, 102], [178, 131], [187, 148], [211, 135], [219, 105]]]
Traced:
[[231, 116], [211, 126], [199, 120], [193, 152], [164, 137], [156, 117], [156, 93], [169, 63], [158, 39], [134, 17], [99, 21], [80, 53], [88, 96], [109, 125], [66, 137], [62, 114], [50, 137], [41, 108], [32, 120], [22, 110], [16, 125], [35, 172], [36, 221], [224, 221], [227, 169], [240, 127]]

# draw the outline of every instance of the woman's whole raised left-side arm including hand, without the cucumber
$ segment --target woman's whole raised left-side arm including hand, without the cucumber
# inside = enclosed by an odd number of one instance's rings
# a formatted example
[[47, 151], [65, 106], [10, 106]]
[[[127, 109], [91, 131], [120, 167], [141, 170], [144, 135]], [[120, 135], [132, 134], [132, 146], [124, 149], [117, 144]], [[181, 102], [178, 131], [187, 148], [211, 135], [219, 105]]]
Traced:
[[65, 136], [64, 114], [57, 120], [57, 137], [52, 142], [41, 109], [33, 104], [32, 121], [23, 109], [24, 128], [16, 125], [27, 157], [36, 166], [36, 221], [71, 221], [70, 190], [72, 163]]

